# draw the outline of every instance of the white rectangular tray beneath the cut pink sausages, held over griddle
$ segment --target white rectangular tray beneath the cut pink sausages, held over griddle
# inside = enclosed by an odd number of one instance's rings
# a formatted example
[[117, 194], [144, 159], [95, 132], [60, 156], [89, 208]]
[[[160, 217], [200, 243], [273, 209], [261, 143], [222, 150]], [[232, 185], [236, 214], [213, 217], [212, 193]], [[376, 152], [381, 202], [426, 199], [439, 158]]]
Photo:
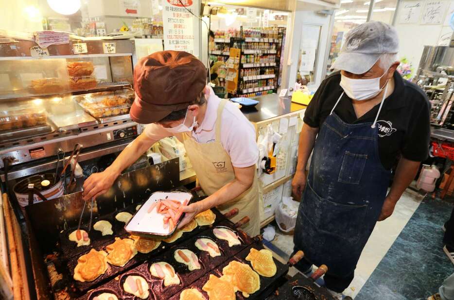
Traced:
[[[132, 217], [129, 222], [124, 226], [124, 229], [129, 233], [136, 233], [139, 235], [153, 234], [160, 236], [167, 236], [172, 234], [177, 227], [179, 221], [183, 218], [181, 216], [175, 224], [175, 228], [170, 231], [170, 228], [164, 228], [164, 215], [158, 214], [156, 208], [151, 213], [148, 213], [148, 208], [152, 203], [157, 202], [160, 199], [178, 200], [183, 203], [185, 200], [189, 200], [191, 203], [192, 194], [185, 192], [154, 192], [150, 198], [143, 203], [139, 211]], [[188, 204], [189, 204], [188, 203]]]

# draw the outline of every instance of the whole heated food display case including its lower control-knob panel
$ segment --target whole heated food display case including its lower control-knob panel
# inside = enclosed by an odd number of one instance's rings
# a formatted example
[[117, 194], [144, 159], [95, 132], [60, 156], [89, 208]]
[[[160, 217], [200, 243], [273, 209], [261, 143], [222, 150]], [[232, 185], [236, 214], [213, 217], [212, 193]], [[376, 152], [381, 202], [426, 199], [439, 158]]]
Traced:
[[135, 53], [134, 40], [0, 44], [0, 172], [5, 159], [8, 178], [51, 169], [76, 144], [122, 150], [140, 134], [129, 117]]

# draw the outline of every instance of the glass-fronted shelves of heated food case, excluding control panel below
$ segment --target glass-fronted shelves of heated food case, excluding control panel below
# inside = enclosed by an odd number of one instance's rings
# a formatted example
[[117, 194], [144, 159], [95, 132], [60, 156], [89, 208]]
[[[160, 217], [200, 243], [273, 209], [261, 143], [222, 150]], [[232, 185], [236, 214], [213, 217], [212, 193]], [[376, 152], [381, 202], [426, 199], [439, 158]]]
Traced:
[[129, 118], [134, 41], [107, 43], [115, 53], [104, 53], [106, 41], [84, 44], [82, 54], [70, 43], [40, 57], [27, 45], [0, 48], [0, 143]]

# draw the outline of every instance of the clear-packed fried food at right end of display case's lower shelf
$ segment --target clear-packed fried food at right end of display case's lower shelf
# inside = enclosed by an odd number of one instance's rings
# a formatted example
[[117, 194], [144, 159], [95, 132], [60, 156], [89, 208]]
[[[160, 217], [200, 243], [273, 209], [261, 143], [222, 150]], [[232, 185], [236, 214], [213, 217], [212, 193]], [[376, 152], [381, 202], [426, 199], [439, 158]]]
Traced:
[[131, 100], [125, 95], [114, 92], [101, 92], [75, 97], [79, 105], [93, 117], [110, 117], [127, 114]]

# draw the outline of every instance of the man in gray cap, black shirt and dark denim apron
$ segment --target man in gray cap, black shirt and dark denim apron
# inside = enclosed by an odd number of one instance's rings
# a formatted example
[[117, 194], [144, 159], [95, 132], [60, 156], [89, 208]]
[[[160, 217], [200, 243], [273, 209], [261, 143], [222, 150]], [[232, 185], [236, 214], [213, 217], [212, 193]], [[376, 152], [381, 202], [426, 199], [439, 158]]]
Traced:
[[428, 156], [430, 104], [396, 71], [398, 47], [396, 30], [382, 22], [350, 30], [332, 66], [340, 71], [321, 83], [304, 116], [292, 182], [298, 198], [304, 191], [297, 268], [327, 265], [326, 287], [339, 299], [376, 222], [391, 216]]

